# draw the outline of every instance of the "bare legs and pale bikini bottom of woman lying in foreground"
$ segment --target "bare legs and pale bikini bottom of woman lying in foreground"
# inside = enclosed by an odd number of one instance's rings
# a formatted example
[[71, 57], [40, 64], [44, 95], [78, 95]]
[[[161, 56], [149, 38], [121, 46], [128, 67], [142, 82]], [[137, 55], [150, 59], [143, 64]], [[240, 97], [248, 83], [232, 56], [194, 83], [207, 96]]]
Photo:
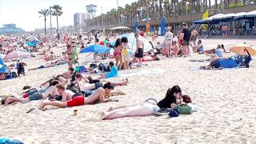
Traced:
[[117, 108], [110, 107], [107, 112], [102, 113], [100, 119], [114, 119], [124, 117], [146, 116], [156, 113], [160, 110], [157, 100], [148, 98], [145, 102], [132, 106], [119, 106]]

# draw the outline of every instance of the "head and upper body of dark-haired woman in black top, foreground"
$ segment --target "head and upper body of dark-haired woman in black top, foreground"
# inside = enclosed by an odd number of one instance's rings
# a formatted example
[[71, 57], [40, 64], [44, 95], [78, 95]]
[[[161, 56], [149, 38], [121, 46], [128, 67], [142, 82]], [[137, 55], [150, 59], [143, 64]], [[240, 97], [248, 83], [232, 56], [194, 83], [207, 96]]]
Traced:
[[173, 86], [166, 92], [166, 97], [158, 102], [160, 108], [172, 108], [174, 109], [178, 104], [182, 104], [182, 89], [179, 86]]

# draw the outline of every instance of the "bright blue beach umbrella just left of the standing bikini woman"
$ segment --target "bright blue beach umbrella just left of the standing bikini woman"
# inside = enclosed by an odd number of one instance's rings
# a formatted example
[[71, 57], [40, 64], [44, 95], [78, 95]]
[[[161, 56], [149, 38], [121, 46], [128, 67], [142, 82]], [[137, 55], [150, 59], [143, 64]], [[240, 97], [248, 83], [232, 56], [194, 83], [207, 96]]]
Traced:
[[81, 50], [80, 53], [106, 53], [110, 51], [110, 48], [101, 45], [90, 45]]

